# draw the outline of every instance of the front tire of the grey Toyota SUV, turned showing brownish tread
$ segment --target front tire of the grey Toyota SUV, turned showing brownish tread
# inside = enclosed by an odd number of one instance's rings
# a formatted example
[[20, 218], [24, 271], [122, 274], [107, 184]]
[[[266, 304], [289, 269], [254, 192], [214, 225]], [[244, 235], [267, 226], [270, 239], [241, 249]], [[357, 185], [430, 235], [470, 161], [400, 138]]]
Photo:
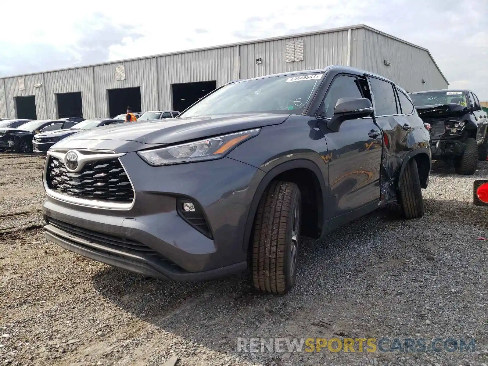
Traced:
[[283, 295], [295, 285], [301, 212], [295, 183], [272, 182], [263, 193], [252, 238], [252, 279], [257, 290]]

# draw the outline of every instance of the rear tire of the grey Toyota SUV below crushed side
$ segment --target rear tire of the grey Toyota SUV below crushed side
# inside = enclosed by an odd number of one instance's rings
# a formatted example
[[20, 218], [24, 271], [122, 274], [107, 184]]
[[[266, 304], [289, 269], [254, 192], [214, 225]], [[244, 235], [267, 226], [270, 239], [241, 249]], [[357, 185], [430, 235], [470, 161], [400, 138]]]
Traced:
[[425, 207], [420, 188], [420, 176], [415, 159], [410, 159], [400, 177], [400, 205], [407, 219], [424, 216]]

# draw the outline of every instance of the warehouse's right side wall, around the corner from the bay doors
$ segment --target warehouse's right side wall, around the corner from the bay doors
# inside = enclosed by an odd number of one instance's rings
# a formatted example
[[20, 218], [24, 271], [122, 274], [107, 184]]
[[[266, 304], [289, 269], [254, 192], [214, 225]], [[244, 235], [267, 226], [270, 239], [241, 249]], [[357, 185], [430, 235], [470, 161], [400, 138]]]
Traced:
[[[395, 81], [408, 92], [447, 89], [447, 81], [427, 51], [369, 29], [363, 31], [363, 69]], [[391, 65], [386, 66], [385, 60]]]

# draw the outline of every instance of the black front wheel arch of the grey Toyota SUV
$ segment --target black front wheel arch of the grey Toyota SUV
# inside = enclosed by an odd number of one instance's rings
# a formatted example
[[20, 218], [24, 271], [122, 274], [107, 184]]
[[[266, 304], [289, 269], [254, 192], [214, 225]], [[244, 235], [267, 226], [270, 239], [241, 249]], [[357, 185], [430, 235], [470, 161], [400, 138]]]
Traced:
[[[250, 237], [259, 201], [266, 188], [271, 182], [277, 179], [293, 182], [298, 185], [302, 194], [303, 224], [305, 223], [305, 211], [313, 206], [311, 200], [315, 201], [315, 206], [312, 207], [313, 212], [307, 212], [307, 215], [313, 217], [314, 220], [309, 220], [309, 224], [307, 224], [305, 230], [302, 230], [302, 233], [305, 234], [305, 236], [310, 236], [312, 238], [319, 238], [322, 234], [324, 225], [324, 201], [326, 195], [324, 178], [317, 164], [309, 160], [297, 159], [275, 166], [266, 173], [258, 184], [249, 207], [245, 224], [243, 245], [246, 252], [248, 252], [249, 249]], [[309, 179], [310, 181], [307, 182]]]

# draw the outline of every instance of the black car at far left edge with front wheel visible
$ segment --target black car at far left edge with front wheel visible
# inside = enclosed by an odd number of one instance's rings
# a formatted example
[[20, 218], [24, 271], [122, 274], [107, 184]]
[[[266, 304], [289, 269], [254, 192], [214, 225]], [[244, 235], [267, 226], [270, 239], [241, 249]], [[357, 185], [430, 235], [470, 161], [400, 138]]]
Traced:
[[60, 120], [35, 120], [25, 122], [18, 126], [0, 128], [0, 149], [14, 150], [18, 153], [29, 153], [32, 151], [32, 139], [36, 133], [44, 127], [52, 124], [59, 124]]

